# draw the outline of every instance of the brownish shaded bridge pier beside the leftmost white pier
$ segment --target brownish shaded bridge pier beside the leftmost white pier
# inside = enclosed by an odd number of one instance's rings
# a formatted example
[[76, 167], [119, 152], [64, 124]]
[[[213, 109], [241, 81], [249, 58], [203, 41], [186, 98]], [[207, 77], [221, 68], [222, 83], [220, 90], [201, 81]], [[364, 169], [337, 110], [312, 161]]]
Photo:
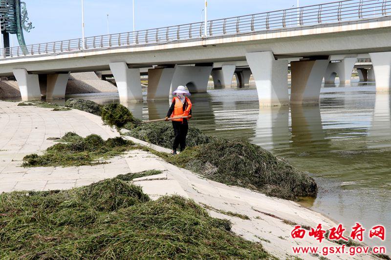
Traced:
[[69, 74], [70, 72], [47, 75], [46, 100], [65, 99], [65, 89]]

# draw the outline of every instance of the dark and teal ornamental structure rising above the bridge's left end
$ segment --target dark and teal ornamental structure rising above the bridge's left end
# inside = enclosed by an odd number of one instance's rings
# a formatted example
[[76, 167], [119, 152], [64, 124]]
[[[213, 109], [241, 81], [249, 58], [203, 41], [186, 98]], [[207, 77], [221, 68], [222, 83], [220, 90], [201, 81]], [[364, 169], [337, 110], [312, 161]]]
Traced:
[[30, 32], [34, 27], [31, 22], [28, 22], [26, 3], [20, 0], [0, 0], [0, 24], [4, 48], [7, 50], [5, 55], [9, 56], [9, 49], [7, 49], [9, 48], [9, 34], [17, 35], [22, 53], [28, 54], [23, 29]]

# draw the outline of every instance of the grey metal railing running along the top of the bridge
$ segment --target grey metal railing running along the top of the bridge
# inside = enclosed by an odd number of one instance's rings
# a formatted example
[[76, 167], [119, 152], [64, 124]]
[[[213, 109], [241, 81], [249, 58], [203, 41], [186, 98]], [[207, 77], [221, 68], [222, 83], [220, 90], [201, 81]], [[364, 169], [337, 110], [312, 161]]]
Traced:
[[343, 0], [266, 13], [210, 20], [205, 37], [204, 23], [195, 22], [136, 32], [101, 35], [83, 40], [62, 40], [0, 49], [0, 60], [37, 55], [165, 44], [173, 41], [199, 40], [276, 30], [295, 30], [308, 26], [390, 18], [391, 0]]

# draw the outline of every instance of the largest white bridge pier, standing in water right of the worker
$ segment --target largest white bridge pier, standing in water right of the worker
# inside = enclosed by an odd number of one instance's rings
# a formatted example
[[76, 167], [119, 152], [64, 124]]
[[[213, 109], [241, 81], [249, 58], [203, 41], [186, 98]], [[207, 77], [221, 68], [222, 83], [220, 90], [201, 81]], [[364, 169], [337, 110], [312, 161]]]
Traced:
[[257, 85], [260, 106], [289, 104], [288, 61], [275, 60], [272, 52], [247, 53], [246, 59]]

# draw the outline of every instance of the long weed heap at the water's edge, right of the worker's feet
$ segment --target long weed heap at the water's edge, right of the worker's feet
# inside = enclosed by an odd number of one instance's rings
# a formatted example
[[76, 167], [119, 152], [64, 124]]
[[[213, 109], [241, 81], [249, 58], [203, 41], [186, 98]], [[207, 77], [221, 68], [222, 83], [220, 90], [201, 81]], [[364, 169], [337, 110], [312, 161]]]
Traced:
[[266, 195], [298, 200], [316, 197], [318, 186], [307, 174], [287, 161], [241, 140], [216, 139], [188, 147], [179, 155], [165, 160], [210, 180], [257, 190]]

